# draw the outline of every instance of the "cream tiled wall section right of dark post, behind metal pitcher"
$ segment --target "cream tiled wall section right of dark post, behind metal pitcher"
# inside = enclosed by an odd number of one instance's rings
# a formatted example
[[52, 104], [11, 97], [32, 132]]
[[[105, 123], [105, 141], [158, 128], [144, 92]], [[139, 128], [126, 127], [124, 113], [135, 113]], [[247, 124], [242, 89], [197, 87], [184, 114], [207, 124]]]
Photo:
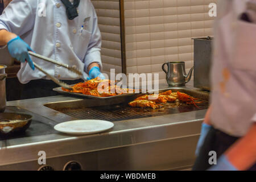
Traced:
[[217, 0], [124, 0], [127, 73], [159, 73], [162, 64], [193, 66], [193, 40], [212, 36], [209, 3]]

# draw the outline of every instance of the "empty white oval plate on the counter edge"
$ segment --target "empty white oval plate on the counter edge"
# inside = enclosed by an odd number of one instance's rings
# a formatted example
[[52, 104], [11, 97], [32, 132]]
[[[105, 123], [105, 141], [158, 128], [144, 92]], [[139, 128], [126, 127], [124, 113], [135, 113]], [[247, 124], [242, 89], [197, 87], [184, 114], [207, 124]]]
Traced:
[[113, 126], [114, 124], [109, 121], [83, 119], [59, 123], [54, 126], [54, 129], [72, 135], [86, 135], [100, 133], [111, 129]]

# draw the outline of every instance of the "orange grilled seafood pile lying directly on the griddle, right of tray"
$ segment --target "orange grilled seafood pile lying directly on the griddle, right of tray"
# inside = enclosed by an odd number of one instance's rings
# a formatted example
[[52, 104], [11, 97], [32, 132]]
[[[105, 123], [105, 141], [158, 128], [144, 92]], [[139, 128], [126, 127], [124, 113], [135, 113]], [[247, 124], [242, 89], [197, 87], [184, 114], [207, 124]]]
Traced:
[[167, 90], [166, 92], [162, 92], [160, 94], [146, 94], [144, 96], [138, 97], [134, 101], [130, 102], [129, 105], [131, 107], [149, 107], [152, 109], [158, 109], [163, 107], [163, 105], [161, 104], [166, 104], [167, 102], [181, 101], [185, 102], [186, 104], [192, 104], [198, 107], [196, 104], [201, 103], [201, 101], [196, 102], [196, 100], [197, 98], [193, 98], [188, 94], [181, 92], [172, 93], [172, 90]]

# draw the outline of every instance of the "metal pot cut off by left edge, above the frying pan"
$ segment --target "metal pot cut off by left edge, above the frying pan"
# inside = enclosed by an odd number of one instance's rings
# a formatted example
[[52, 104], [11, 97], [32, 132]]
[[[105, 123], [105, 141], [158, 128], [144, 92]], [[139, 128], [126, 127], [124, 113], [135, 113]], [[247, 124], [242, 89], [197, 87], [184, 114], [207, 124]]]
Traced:
[[5, 73], [6, 65], [0, 64], [0, 113], [5, 111], [6, 106], [6, 86], [5, 86], [5, 78], [7, 74]]

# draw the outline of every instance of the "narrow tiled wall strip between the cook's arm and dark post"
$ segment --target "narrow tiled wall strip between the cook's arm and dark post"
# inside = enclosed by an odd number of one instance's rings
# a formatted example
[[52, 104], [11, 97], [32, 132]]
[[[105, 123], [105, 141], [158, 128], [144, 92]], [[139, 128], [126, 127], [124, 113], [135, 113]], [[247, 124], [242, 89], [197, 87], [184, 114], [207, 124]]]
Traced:
[[104, 73], [122, 72], [119, 0], [91, 0], [102, 36], [101, 59]]

